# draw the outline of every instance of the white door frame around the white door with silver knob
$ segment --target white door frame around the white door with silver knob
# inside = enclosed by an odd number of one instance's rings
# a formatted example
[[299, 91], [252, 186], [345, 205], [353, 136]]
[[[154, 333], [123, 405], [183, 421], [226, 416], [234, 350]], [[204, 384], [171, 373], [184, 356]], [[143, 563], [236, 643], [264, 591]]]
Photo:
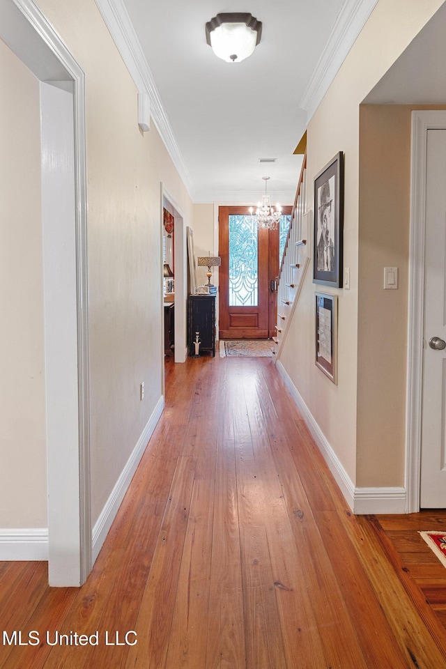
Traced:
[[412, 112], [408, 366], [406, 401], [406, 513], [420, 511], [427, 131], [446, 128], [446, 111]]

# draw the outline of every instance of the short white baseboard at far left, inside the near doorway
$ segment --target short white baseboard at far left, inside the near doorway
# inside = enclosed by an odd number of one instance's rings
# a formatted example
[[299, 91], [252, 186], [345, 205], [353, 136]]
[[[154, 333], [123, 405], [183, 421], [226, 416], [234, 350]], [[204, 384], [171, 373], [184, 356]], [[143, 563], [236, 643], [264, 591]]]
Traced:
[[0, 529], [0, 560], [48, 560], [48, 529]]

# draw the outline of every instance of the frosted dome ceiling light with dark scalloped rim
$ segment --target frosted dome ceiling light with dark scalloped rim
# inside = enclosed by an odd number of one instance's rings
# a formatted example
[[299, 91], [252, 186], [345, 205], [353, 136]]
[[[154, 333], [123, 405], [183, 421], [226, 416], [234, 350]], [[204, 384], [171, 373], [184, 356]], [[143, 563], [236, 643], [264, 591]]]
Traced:
[[206, 23], [206, 42], [226, 63], [245, 60], [259, 44], [261, 35], [261, 21], [252, 14], [217, 14]]

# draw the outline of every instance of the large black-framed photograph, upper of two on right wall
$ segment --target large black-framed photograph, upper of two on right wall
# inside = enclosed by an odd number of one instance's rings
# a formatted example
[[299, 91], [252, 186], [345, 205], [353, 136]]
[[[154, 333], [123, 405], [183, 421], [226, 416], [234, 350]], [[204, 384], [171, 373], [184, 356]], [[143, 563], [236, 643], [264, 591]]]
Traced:
[[344, 154], [339, 151], [314, 178], [313, 282], [342, 288]]

